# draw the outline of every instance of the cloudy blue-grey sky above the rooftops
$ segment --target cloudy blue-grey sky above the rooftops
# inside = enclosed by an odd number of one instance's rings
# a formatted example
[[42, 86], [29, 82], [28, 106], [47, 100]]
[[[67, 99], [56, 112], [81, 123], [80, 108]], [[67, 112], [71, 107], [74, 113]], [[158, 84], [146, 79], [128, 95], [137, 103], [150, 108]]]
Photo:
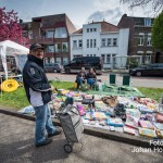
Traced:
[[149, 10], [138, 7], [129, 10], [120, 0], [0, 0], [0, 8], [14, 10], [24, 22], [32, 17], [66, 13], [76, 28], [93, 21], [106, 21], [117, 25], [121, 16], [151, 16]]

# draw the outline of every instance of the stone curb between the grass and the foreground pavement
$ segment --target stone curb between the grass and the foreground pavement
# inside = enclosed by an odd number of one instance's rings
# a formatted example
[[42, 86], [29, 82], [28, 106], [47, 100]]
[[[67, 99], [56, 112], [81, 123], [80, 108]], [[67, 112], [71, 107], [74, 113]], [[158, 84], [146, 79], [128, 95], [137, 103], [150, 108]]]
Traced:
[[[0, 113], [16, 116], [20, 118], [29, 120], [29, 121], [35, 121], [34, 115], [20, 114], [16, 111], [11, 111], [7, 109], [5, 110], [0, 109]], [[53, 125], [61, 126], [59, 120], [52, 120], [52, 122], [53, 122]], [[155, 146], [150, 145], [150, 140], [153, 140], [153, 139], [149, 139], [149, 138], [145, 139], [142, 137], [130, 136], [124, 133], [110, 131], [110, 130], [102, 129], [102, 128], [85, 126], [84, 133], [87, 135], [97, 136], [97, 137], [101, 137], [101, 138], [105, 138], [110, 140], [115, 140], [115, 141], [121, 141], [124, 143], [129, 143], [129, 145], [139, 146], [143, 148], [155, 147]]]

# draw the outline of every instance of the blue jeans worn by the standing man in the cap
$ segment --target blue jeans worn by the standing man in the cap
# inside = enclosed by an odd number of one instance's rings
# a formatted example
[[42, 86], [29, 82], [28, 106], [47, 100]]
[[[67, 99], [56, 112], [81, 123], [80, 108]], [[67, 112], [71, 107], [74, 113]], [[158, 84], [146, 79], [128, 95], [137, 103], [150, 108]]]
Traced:
[[51, 121], [49, 104], [36, 106], [34, 109], [36, 115], [35, 143], [41, 143], [46, 140], [46, 129], [48, 134], [53, 134], [55, 131], [55, 127]]

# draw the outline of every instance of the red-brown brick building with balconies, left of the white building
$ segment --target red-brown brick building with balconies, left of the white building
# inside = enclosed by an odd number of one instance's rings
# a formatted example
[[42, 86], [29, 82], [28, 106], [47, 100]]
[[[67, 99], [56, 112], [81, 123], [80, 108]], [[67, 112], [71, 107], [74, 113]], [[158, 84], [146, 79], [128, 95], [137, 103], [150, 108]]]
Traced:
[[70, 62], [70, 35], [76, 28], [66, 14], [33, 17], [32, 22], [20, 22], [20, 25], [30, 43], [45, 45], [45, 63]]

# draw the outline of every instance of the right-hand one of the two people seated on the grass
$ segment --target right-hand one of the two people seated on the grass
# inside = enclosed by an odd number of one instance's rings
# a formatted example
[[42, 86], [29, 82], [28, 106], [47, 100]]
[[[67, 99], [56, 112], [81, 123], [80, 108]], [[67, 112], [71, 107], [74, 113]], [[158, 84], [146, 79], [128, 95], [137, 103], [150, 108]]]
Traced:
[[90, 85], [90, 88], [92, 88], [96, 84], [97, 75], [93, 71], [93, 68], [89, 70], [89, 73], [87, 74], [87, 84]]

